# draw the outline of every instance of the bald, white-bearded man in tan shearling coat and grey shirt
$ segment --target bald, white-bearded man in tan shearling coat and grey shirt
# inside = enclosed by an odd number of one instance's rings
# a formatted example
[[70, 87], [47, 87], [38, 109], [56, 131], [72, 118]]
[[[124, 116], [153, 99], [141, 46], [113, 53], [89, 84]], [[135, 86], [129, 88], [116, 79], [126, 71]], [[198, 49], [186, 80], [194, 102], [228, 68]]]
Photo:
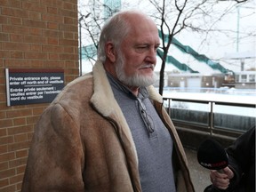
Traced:
[[155, 91], [156, 24], [140, 12], [102, 29], [92, 73], [41, 116], [22, 191], [193, 192], [179, 136]]

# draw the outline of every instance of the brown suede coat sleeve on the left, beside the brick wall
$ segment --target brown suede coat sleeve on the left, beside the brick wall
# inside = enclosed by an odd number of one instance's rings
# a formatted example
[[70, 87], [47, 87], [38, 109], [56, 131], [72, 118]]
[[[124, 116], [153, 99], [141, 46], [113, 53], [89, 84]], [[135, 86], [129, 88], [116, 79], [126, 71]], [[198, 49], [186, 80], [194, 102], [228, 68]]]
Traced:
[[21, 192], [84, 191], [84, 148], [78, 127], [60, 104], [44, 111], [29, 149]]

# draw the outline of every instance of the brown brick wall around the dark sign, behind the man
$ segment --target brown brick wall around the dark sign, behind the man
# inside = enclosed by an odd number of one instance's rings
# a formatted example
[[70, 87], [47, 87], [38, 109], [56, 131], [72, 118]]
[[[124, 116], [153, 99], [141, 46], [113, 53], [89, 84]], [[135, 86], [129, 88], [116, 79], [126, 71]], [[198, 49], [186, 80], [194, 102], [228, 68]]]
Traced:
[[0, 0], [0, 191], [20, 191], [29, 143], [47, 104], [6, 106], [4, 68], [78, 74], [77, 0]]

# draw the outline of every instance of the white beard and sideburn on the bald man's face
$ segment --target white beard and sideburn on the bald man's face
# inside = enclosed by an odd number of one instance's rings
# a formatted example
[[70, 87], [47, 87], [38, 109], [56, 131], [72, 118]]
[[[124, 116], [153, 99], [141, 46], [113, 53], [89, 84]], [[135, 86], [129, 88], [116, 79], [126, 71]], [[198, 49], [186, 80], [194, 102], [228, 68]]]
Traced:
[[152, 76], [142, 76], [136, 73], [133, 76], [126, 76], [124, 72], [124, 57], [122, 52], [118, 52], [118, 58], [116, 60], [116, 76], [119, 81], [127, 86], [144, 86], [147, 87], [154, 84], [156, 81], [156, 74], [153, 72]]

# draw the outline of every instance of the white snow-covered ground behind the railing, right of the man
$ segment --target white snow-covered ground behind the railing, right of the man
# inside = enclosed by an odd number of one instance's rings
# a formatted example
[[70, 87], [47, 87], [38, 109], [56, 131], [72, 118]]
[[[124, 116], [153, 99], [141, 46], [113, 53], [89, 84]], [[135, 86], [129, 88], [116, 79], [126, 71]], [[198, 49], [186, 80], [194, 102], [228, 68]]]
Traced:
[[[199, 91], [199, 92], [198, 92]], [[172, 99], [184, 100], [204, 100], [213, 102], [213, 112], [238, 116], [252, 116], [256, 118], [256, 90], [236, 90], [236, 89], [165, 89], [163, 96]], [[226, 102], [235, 104], [250, 104], [252, 107], [237, 107], [230, 105], [219, 105], [214, 102]], [[166, 103], [167, 104], [167, 103]], [[211, 111], [211, 104], [172, 101], [172, 108], [186, 108], [188, 110]]]

